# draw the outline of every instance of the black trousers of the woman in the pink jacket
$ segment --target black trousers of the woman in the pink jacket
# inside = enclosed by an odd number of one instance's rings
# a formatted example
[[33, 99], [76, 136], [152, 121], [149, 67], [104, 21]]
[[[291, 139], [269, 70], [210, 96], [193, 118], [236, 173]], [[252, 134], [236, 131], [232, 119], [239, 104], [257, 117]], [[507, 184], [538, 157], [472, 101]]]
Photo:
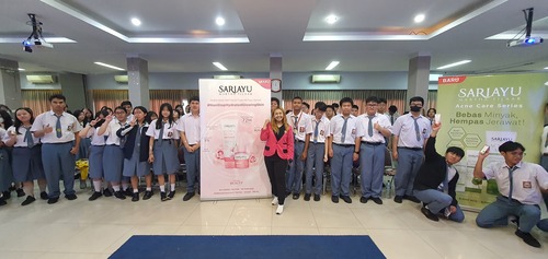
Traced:
[[287, 161], [282, 160], [276, 153], [272, 156], [264, 156], [266, 172], [271, 180], [272, 195], [277, 197], [278, 204], [283, 205], [285, 201], [285, 169]]

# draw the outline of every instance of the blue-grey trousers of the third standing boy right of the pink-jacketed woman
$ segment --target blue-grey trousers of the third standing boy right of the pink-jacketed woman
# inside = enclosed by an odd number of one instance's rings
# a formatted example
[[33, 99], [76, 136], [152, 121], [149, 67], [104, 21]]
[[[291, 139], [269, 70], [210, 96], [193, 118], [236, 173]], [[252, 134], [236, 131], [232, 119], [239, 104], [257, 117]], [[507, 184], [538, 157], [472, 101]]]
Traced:
[[349, 196], [350, 180], [352, 179], [352, 155], [354, 145], [342, 146], [333, 143], [333, 158], [331, 158], [331, 195]]

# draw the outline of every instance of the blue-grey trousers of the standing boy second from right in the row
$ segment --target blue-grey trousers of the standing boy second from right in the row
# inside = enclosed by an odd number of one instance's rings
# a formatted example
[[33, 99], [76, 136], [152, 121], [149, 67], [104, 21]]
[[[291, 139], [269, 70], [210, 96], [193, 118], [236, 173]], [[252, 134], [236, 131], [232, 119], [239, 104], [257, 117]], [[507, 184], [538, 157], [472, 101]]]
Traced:
[[383, 192], [385, 149], [386, 146], [384, 144], [372, 145], [362, 143], [359, 145], [362, 197], [379, 198]]

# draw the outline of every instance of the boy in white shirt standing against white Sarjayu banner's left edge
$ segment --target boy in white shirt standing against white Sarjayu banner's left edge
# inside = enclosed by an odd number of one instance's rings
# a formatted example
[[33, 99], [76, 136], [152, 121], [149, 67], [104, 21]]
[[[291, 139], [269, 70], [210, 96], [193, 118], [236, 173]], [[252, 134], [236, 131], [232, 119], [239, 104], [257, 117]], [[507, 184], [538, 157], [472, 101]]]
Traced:
[[179, 119], [176, 126], [186, 163], [186, 195], [183, 201], [192, 199], [199, 188], [199, 97], [193, 96], [189, 102], [190, 110]]

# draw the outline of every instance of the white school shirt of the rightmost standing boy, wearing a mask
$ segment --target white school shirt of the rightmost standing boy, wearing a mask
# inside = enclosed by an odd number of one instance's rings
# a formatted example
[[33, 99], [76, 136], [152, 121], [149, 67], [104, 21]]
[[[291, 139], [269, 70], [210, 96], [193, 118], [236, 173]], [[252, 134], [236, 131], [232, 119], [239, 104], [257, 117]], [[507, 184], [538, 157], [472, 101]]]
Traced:
[[392, 134], [399, 137], [398, 146], [423, 148], [424, 140], [429, 139], [432, 132], [432, 123], [422, 115], [416, 119], [416, 123], [419, 125], [419, 141], [416, 141], [414, 119], [411, 113], [398, 117], [392, 127]]

